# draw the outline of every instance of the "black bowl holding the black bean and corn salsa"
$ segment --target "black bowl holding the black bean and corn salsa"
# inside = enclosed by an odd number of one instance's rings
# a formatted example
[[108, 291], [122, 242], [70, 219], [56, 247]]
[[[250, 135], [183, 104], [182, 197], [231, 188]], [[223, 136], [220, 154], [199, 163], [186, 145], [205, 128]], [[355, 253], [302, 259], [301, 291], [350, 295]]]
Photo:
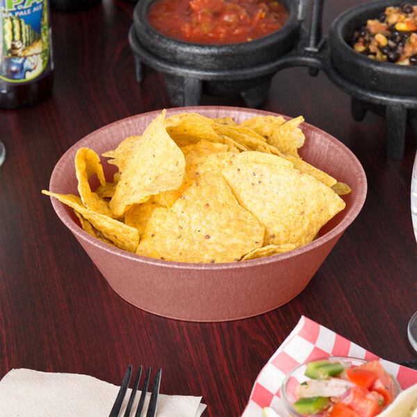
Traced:
[[329, 31], [330, 57], [335, 69], [352, 83], [377, 92], [416, 96], [417, 67], [373, 60], [354, 51], [349, 44], [354, 31], [368, 19], [377, 19], [386, 7], [400, 3], [402, 1], [398, 0], [372, 1], [339, 15]]

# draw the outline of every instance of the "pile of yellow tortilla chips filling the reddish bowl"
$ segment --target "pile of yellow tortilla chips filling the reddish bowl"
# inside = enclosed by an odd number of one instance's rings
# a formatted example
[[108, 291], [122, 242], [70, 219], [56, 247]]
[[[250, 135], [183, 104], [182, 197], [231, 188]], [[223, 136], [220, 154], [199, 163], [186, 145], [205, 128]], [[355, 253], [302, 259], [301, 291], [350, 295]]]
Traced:
[[118, 168], [113, 181], [99, 156], [81, 148], [79, 196], [42, 193], [73, 208], [92, 236], [142, 256], [218, 263], [287, 252], [311, 242], [350, 192], [300, 158], [302, 121], [165, 119], [164, 110], [142, 136], [103, 154]]

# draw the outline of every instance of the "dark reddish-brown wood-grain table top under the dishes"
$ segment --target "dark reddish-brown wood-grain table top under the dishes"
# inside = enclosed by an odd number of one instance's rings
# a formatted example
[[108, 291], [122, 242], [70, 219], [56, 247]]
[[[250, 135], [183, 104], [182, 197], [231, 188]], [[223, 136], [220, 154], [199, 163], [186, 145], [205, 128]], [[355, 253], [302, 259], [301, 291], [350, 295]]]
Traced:
[[[363, 1], [325, 2], [323, 31]], [[389, 361], [417, 357], [407, 322], [417, 310], [417, 245], [410, 215], [416, 137], [385, 153], [384, 118], [350, 115], [350, 97], [325, 74], [288, 68], [262, 107], [318, 126], [350, 147], [368, 177], [366, 203], [306, 289], [262, 316], [220, 323], [154, 316], [122, 300], [53, 211], [58, 158], [115, 120], [172, 106], [158, 72], [135, 81], [127, 34], [134, 3], [52, 11], [55, 81], [37, 106], [0, 111], [0, 377], [12, 368], [84, 373], [120, 384], [128, 363], [163, 368], [161, 392], [203, 395], [206, 416], [239, 416], [263, 364], [304, 315]], [[245, 106], [203, 97], [204, 105]]]

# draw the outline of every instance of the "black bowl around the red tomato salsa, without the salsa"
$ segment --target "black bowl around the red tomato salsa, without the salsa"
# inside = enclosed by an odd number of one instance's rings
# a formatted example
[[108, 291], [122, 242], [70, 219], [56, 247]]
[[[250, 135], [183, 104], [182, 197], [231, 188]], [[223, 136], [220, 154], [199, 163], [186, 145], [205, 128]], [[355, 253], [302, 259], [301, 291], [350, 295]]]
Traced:
[[163, 60], [200, 70], [235, 70], [270, 63], [297, 42], [300, 22], [296, 0], [280, 0], [288, 11], [287, 22], [279, 30], [251, 42], [235, 44], [196, 44], [183, 42], [156, 31], [147, 13], [156, 0], [140, 0], [133, 11], [133, 26], [142, 46]]

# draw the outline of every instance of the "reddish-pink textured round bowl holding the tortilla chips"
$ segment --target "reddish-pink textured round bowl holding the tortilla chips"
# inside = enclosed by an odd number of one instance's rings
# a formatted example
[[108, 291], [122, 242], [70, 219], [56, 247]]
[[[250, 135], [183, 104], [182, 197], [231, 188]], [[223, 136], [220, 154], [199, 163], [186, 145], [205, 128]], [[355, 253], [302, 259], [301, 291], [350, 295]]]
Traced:
[[[234, 117], [242, 122], [256, 115], [274, 115], [247, 108], [198, 106], [167, 109], [207, 117]], [[108, 124], [79, 140], [60, 158], [49, 184], [54, 193], [77, 194], [74, 156], [80, 147], [97, 154], [115, 149], [128, 136], [141, 134], [160, 111]], [[286, 116], [284, 116], [286, 117]], [[288, 119], [288, 117], [286, 117]], [[303, 123], [306, 136], [300, 155], [352, 188], [345, 209], [313, 242], [285, 254], [235, 263], [179, 263], [146, 258], [106, 245], [83, 231], [71, 208], [52, 198], [54, 209], [72, 231], [113, 290], [124, 300], [159, 316], [190, 321], [224, 321], [256, 316], [296, 297], [309, 283], [343, 231], [357, 217], [366, 198], [366, 175], [352, 152], [329, 134]], [[108, 181], [115, 167], [102, 158]]]

